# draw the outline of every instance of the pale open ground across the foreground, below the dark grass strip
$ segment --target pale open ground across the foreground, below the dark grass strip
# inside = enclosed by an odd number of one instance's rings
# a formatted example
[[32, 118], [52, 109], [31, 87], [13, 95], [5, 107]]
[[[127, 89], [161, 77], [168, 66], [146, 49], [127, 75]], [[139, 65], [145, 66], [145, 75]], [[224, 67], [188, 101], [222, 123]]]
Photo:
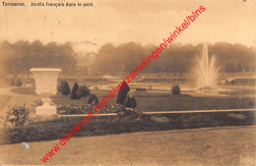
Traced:
[[[47, 163], [59, 139], [0, 146], [4, 165], [255, 166], [255, 127], [141, 132], [72, 138]], [[10, 155], [11, 154], [11, 155]]]

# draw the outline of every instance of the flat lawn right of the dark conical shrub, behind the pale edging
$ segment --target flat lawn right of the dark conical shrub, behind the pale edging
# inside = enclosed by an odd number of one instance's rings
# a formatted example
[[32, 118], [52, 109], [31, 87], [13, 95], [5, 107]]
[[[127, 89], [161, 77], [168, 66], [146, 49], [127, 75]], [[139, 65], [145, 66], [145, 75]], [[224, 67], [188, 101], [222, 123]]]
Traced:
[[194, 97], [186, 94], [147, 94], [147, 92], [145, 95], [136, 96], [138, 108], [143, 111], [240, 109], [255, 106], [254, 98]]

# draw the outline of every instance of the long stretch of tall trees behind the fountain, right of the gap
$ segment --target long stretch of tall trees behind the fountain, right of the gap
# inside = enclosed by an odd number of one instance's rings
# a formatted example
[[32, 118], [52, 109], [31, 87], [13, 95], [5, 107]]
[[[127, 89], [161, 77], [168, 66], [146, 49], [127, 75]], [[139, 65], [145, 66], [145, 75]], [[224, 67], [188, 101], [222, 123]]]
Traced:
[[[142, 46], [125, 43], [103, 45], [96, 53], [94, 68], [103, 73], [131, 72], [144, 57], [156, 49], [156, 45]], [[209, 44], [209, 55], [215, 55], [222, 72], [255, 71], [255, 49], [241, 44]], [[196, 56], [201, 56], [203, 44], [196, 46], [172, 44], [160, 53], [160, 58], [147, 67], [147, 72], [189, 72], [195, 65]]]

